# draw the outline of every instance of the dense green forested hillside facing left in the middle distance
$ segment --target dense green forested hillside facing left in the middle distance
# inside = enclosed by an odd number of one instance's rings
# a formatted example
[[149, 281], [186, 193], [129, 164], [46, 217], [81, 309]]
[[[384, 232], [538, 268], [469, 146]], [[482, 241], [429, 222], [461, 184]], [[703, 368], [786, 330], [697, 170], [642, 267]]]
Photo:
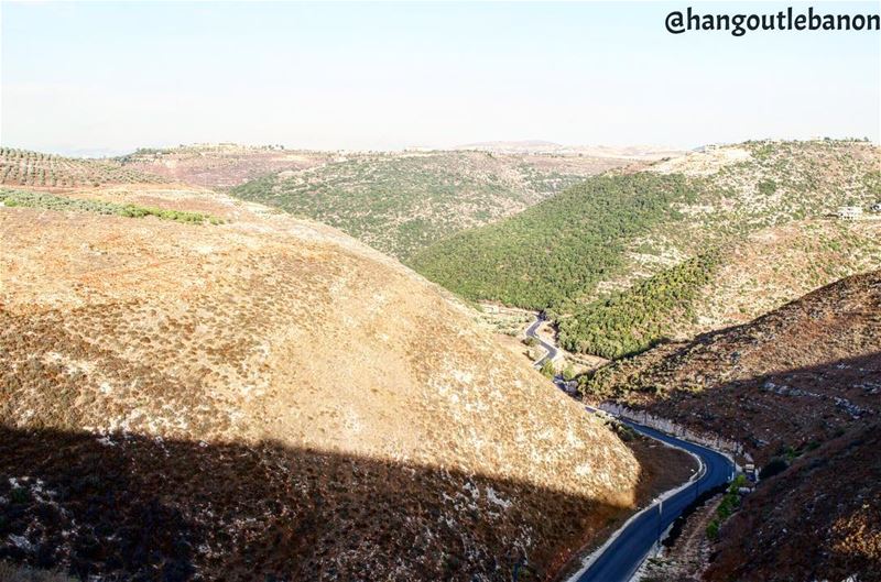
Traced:
[[623, 264], [628, 243], [683, 217], [697, 199], [681, 175], [597, 176], [498, 223], [413, 257], [413, 267], [470, 299], [544, 309], [583, 295]]

